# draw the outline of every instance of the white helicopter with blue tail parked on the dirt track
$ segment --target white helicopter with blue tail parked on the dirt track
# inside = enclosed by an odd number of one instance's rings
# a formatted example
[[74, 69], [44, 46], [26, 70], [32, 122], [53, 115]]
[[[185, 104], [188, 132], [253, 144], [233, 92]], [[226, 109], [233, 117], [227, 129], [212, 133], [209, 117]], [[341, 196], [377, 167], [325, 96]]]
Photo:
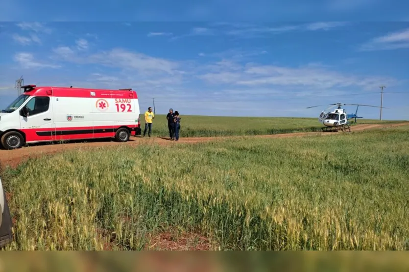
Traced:
[[[357, 123], [357, 118], [363, 118], [362, 116], [358, 116], [358, 107], [359, 106], [366, 106], [366, 107], [378, 107], [380, 106], [373, 106], [373, 105], [362, 105], [362, 104], [343, 104], [343, 103], [335, 103], [335, 104], [328, 104], [331, 105], [330, 107], [324, 109], [318, 117], [318, 121], [321, 122], [324, 127], [322, 127], [322, 131], [338, 131], [338, 128], [341, 129], [342, 132], [346, 130], [351, 131], [349, 126], [349, 120], [355, 119], [355, 123]], [[341, 108], [342, 105], [355, 105], [357, 106], [357, 110], [354, 113], [347, 114], [346, 110]], [[317, 106], [310, 106], [307, 108], [319, 107], [323, 105]], [[337, 107], [334, 111], [329, 111], [331, 108]], [[385, 108], [385, 107], [382, 107]]]

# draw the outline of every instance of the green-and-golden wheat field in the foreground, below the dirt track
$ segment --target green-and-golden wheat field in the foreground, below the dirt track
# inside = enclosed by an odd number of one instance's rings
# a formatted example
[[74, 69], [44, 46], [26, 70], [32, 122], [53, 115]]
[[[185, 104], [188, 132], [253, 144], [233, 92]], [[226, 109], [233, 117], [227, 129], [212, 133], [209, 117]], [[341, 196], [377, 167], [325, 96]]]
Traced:
[[3, 180], [12, 250], [139, 250], [175, 228], [222, 250], [409, 250], [408, 126], [68, 151]]

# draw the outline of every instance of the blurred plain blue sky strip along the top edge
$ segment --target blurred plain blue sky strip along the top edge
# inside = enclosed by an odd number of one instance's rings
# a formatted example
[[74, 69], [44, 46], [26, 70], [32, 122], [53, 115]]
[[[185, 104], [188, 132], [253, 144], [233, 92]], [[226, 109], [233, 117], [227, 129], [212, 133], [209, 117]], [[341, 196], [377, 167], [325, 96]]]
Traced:
[[[409, 21], [405, 0], [1, 0], [1, 21]], [[37, 19], [38, 18], [38, 19]]]

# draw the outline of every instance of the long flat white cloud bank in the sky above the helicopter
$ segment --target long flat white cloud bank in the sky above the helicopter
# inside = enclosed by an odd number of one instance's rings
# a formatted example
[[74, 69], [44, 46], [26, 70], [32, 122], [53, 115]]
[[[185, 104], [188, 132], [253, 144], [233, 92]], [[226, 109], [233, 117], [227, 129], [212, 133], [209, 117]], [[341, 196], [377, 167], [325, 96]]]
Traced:
[[[283, 67], [247, 63], [235, 65], [217, 63], [208, 66], [210, 71], [197, 77], [211, 84], [231, 84], [254, 87], [299, 87], [328, 89], [359, 87], [364, 90], [376, 89], [379, 84], [395, 84], [395, 80], [386, 77], [357, 76], [328, 70], [320, 65], [302, 67]], [[308, 90], [308, 89], [306, 89]]]

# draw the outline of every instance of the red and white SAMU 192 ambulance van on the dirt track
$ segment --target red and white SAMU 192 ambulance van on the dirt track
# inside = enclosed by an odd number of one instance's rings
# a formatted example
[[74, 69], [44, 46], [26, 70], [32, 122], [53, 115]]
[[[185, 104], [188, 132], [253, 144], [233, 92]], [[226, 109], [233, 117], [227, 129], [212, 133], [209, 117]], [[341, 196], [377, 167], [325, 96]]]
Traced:
[[132, 89], [24, 85], [0, 113], [0, 146], [98, 138], [126, 142], [141, 134], [138, 95]]

